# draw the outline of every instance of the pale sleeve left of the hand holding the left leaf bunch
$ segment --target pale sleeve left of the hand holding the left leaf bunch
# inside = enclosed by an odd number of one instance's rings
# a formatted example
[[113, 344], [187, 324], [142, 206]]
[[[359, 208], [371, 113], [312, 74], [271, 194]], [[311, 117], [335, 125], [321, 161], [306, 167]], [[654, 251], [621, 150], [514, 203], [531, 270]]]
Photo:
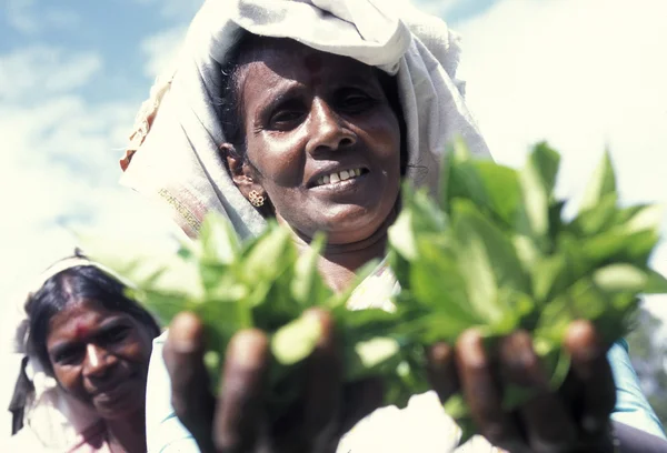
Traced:
[[153, 341], [146, 390], [146, 443], [148, 453], [200, 453], [192, 434], [171, 407], [171, 382], [162, 360], [167, 332]]

